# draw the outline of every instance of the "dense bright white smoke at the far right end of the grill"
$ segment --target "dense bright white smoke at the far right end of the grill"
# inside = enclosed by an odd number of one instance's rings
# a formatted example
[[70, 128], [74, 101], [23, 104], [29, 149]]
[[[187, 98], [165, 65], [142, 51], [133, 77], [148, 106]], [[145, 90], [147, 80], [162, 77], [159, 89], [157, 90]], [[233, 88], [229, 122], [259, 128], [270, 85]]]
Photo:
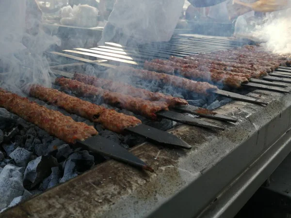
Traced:
[[291, 54], [291, 9], [269, 13], [263, 21], [252, 35], [273, 53]]

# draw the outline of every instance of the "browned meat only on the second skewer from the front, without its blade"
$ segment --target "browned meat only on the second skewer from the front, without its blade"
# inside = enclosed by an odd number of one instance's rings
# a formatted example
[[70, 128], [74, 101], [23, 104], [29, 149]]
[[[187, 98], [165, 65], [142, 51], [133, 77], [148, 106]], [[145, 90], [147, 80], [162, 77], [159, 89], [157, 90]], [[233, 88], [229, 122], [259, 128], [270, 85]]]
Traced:
[[100, 123], [104, 128], [113, 132], [123, 133], [125, 128], [142, 123], [136, 117], [118, 113], [115, 110], [106, 109], [56, 89], [32, 85], [30, 87], [30, 95], [49, 102], [50, 104], [57, 105], [69, 113], [75, 113], [90, 121]]

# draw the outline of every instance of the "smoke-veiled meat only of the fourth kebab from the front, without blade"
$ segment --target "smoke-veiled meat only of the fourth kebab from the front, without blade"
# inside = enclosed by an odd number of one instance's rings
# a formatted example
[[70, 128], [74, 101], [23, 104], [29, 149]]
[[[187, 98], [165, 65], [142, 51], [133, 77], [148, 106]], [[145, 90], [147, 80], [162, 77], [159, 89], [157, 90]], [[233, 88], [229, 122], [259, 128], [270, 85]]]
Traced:
[[75, 74], [74, 79], [83, 82], [88, 85], [100, 87], [102, 89], [109, 90], [111, 92], [129, 94], [132, 97], [139, 97], [150, 101], [164, 101], [168, 104], [168, 107], [175, 107], [181, 105], [187, 105], [187, 101], [182, 98], [173, 97], [171, 95], [165, 95], [163, 93], [153, 93], [145, 89], [139, 89], [123, 82], [115, 82], [105, 78], [96, 78], [83, 74]]

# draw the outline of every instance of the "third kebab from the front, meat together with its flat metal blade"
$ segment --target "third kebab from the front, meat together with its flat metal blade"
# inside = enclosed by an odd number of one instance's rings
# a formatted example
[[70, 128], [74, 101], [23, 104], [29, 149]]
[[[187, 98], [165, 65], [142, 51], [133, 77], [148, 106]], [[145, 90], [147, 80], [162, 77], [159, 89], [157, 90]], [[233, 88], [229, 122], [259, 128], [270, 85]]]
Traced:
[[118, 105], [120, 108], [143, 114], [152, 120], [166, 118], [179, 123], [224, 130], [224, 128], [220, 126], [212, 125], [197, 118], [193, 118], [191, 116], [180, 114], [174, 111], [168, 111], [166, 102], [151, 102], [142, 98], [135, 98], [122, 93], [114, 93], [68, 78], [57, 78], [55, 83], [64, 87], [65, 89], [69, 89], [83, 96], [102, 96], [102, 98], [111, 105]]

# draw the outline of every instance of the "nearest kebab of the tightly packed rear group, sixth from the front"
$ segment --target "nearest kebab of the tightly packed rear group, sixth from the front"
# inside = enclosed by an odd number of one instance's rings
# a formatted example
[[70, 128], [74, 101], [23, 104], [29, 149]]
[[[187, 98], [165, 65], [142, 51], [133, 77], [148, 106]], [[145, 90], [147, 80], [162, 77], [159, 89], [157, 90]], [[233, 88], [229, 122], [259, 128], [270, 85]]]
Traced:
[[[145, 62], [144, 68], [146, 70], [154, 70], [157, 71], [157, 68], [162, 69], [164, 65], [154, 62]], [[174, 67], [173, 67], [174, 69]], [[164, 71], [165, 72], [165, 71]], [[165, 72], [167, 73], [167, 72]], [[178, 74], [185, 78], [195, 78], [201, 79], [203, 81], [212, 81], [212, 82], [221, 82], [229, 87], [239, 88], [242, 83], [248, 82], [248, 79], [245, 77], [237, 77], [237, 76], [228, 76], [223, 74], [215, 74], [211, 72], [203, 72], [196, 69], [189, 68], [179, 68]]]

